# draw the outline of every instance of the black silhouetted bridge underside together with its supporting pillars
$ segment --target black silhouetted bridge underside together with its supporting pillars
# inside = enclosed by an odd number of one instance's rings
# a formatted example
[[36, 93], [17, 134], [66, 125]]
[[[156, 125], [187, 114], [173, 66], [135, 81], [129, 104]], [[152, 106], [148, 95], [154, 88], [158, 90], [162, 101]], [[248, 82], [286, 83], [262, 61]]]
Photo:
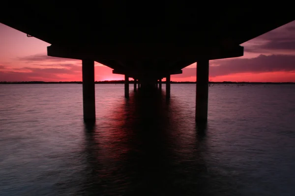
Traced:
[[167, 98], [170, 75], [197, 62], [196, 120], [206, 121], [209, 60], [242, 56], [240, 44], [293, 20], [292, 6], [280, 2], [259, 7], [97, 1], [61, 7], [23, 1], [0, 12], [0, 23], [50, 43], [49, 56], [82, 60], [85, 119], [95, 119], [94, 61], [125, 75], [125, 97], [129, 77], [143, 87], [166, 77]]

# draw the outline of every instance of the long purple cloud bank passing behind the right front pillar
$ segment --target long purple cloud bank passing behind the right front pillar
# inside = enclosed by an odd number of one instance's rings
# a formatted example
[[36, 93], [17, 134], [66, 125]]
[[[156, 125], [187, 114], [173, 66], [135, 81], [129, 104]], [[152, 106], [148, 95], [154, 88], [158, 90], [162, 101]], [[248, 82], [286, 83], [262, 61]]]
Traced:
[[[236, 58], [215, 60], [210, 66], [211, 77], [233, 73], [266, 73], [266, 72], [295, 72], [295, 55], [260, 55], [256, 58]], [[190, 77], [196, 75], [196, 68], [185, 68], [183, 73], [175, 77]]]

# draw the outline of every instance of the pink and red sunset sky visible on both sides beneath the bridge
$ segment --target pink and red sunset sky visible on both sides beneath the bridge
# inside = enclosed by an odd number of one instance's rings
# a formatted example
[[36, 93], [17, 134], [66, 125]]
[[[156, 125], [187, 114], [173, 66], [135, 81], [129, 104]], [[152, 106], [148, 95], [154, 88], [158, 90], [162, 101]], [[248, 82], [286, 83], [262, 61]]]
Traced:
[[[50, 44], [0, 24], [0, 81], [82, 81], [81, 60], [47, 56]], [[244, 56], [210, 61], [210, 81], [295, 82], [295, 21], [245, 42]], [[172, 81], [196, 81], [196, 63]], [[121, 80], [95, 64], [95, 80]], [[165, 80], [165, 79], [164, 79]]]

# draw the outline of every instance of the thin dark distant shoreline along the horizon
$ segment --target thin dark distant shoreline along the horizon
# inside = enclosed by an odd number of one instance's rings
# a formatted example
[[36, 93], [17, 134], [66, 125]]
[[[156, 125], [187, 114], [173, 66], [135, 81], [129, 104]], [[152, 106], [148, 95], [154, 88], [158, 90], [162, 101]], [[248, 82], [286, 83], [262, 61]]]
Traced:
[[[129, 81], [133, 84], [133, 80]], [[166, 82], [162, 82], [165, 84]], [[171, 81], [172, 84], [195, 84], [196, 82], [175, 82]], [[69, 81], [69, 82], [44, 82], [44, 81], [23, 81], [23, 82], [5, 82], [2, 81], [0, 84], [82, 84], [81, 81]], [[95, 84], [124, 84], [124, 80], [113, 80], [113, 81], [95, 81]], [[295, 82], [209, 82], [209, 84], [295, 84]]]

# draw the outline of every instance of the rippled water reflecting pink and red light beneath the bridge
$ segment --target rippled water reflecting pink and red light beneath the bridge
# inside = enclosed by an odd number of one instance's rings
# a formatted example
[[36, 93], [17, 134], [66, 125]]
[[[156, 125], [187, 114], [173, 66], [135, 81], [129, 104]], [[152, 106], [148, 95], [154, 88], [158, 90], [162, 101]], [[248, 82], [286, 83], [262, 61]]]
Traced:
[[207, 125], [195, 84], [95, 90], [91, 126], [80, 84], [0, 85], [1, 196], [295, 195], [295, 85], [209, 87]]

